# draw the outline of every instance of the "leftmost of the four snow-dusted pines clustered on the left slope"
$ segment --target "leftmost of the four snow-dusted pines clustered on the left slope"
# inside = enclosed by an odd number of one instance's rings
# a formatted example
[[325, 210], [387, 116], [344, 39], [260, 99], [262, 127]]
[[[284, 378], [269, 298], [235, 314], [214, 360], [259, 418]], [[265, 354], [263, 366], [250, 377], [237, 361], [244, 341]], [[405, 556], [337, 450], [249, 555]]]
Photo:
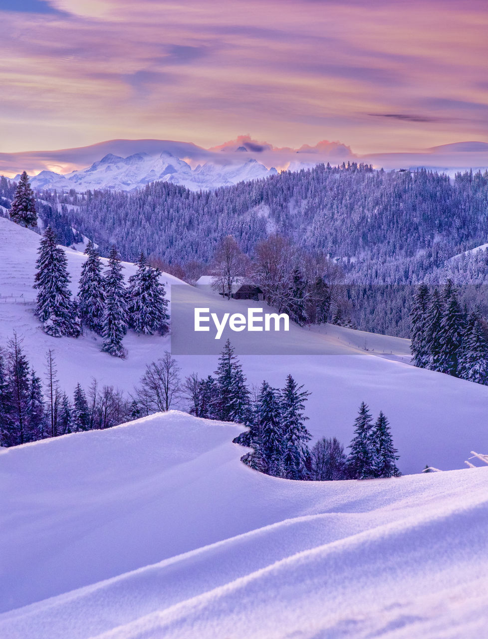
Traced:
[[65, 251], [56, 245], [56, 235], [47, 227], [40, 242], [34, 288], [38, 289], [36, 316], [48, 335], [77, 334], [77, 318], [70, 297], [70, 277]]

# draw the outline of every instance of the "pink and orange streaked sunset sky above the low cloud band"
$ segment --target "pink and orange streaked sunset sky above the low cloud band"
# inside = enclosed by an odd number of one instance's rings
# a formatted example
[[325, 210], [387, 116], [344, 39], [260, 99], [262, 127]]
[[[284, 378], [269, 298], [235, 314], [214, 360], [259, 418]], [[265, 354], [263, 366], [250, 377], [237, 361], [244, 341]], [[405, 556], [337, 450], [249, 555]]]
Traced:
[[488, 142], [488, 3], [0, 0], [0, 151]]

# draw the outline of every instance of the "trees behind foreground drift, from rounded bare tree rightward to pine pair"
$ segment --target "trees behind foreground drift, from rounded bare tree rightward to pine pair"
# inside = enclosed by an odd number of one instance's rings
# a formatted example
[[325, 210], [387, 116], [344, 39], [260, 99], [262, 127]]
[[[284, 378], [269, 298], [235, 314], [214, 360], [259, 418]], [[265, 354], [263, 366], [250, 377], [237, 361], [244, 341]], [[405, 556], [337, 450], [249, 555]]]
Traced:
[[322, 439], [310, 450], [307, 442], [305, 402], [310, 393], [289, 374], [282, 389], [264, 380], [248, 388], [243, 367], [229, 340], [218, 358], [215, 373], [199, 378], [196, 373], [184, 381], [169, 353], [146, 367], [137, 391], [141, 414], [168, 410], [179, 396], [185, 396], [188, 412], [205, 419], [236, 422], [247, 426], [234, 442], [253, 449], [243, 461], [259, 472], [286, 479], [368, 479], [397, 477], [399, 459], [393, 446], [388, 420], [379, 413], [376, 422], [365, 403], [355, 422], [355, 436], [348, 455], [337, 439]]

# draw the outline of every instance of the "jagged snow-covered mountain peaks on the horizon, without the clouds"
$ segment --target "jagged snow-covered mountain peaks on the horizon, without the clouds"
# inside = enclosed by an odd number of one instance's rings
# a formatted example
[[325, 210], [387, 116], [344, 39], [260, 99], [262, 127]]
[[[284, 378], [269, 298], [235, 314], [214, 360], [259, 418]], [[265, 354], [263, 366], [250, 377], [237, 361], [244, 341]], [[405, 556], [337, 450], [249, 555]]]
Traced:
[[[81, 171], [65, 175], [41, 171], [31, 178], [31, 185], [34, 189], [75, 189], [77, 192], [88, 189], [132, 191], [141, 189], [149, 182], [162, 180], [191, 190], [207, 190], [276, 173], [275, 168], [267, 169], [252, 158], [241, 164], [206, 162], [192, 169], [190, 164], [167, 151], [158, 155], [134, 153], [126, 158], [109, 153]], [[19, 177], [14, 179], [18, 180]]]

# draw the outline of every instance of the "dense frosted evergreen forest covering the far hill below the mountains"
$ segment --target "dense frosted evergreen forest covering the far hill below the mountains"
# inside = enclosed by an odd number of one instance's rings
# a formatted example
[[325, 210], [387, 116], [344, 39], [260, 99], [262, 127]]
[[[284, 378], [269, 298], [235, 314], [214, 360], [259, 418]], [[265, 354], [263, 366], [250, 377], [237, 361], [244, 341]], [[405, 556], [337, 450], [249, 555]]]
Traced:
[[[7, 208], [13, 190], [2, 178]], [[488, 252], [451, 259], [488, 240], [486, 172], [449, 178], [423, 169], [321, 164], [205, 192], [166, 182], [132, 193], [42, 192], [38, 216], [66, 245], [82, 233], [102, 255], [115, 244], [123, 259], [137, 261], [144, 252], [183, 267], [210, 264], [225, 236], [251, 259], [269, 235], [287, 236], [302, 254], [323, 254], [340, 266], [355, 325], [374, 332], [409, 335], [409, 285], [423, 281], [477, 284], [460, 292], [461, 302], [468, 297], [470, 305], [488, 310], [479, 286], [488, 274]]]

